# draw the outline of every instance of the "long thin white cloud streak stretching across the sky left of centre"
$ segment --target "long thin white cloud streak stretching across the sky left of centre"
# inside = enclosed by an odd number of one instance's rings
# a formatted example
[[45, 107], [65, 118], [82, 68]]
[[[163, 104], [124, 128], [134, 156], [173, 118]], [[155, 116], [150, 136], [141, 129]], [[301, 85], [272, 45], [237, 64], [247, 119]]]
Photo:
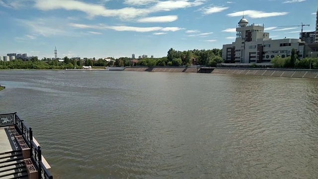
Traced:
[[77, 28], [92, 28], [92, 29], [112, 29], [116, 31], [135, 31], [135, 32], [152, 32], [152, 31], [178, 31], [183, 28], [180, 27], [133, 27], [133, 26], [107, 26], [103, 24], [99, 25], [86, 25], [86, 24], [77, 24], [70, 23], [70, 26]]

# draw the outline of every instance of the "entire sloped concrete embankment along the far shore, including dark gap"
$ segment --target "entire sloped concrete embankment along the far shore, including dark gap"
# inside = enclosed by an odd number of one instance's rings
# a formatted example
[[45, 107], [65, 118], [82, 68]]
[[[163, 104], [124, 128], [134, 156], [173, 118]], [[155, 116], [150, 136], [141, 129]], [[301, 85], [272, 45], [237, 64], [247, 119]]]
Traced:
[[318, 70], [298, 70], [298, 69], [251, 69], [251, 68], [164, 68], [164, 67], [132, 67], [124, 71], [136, 72], [190, 72], [190, 73], [212, 73], [229, 75], [253, 75], [267, 77], [285, 77], [285, 78], [318, 78]]

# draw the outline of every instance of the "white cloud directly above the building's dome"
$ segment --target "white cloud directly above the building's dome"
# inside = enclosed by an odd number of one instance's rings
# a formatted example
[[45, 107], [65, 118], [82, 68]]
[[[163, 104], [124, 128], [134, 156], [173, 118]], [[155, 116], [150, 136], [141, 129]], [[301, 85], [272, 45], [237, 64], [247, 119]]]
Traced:
[[280, 16], [286, 15], [289, 12], [263, 12], [259, 10], [244, 10], [227, 14], [227, 16], [235, 17], [235, 16], [248, 16], [250, 18], [263, 18], [263, 17], [272, 17], [272, 16]]

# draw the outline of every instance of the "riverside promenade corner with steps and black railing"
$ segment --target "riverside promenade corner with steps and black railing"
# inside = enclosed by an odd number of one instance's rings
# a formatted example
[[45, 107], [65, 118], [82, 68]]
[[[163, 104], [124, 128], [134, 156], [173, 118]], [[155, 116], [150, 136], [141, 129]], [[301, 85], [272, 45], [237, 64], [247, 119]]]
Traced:
[[53, 179], [32, 128], [16, 112], [0, 114], [0, 179]]

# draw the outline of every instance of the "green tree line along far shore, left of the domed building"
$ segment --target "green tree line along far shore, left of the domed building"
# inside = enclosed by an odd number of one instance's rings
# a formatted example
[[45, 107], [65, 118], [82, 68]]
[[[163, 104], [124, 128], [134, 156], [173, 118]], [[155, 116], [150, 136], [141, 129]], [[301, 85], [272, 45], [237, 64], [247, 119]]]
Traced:
[[[204, 65], [204, 66], [216, 66], [217, 63], [222, 62], [222, 50], [212, 49], [212, 50], [187, 50], [187, 51], [177, 51], [170, 48], [167, 51], [167, 56], [161, 58], [143, 58], [139, 60], [138, 63], [133, 65], [137, 66], [190, 66]], [[120, 57], [117, 59], [111, 58], [110, 62], [106, 62], [104, 59], [93, 60], [83, 58], [83, 60], [70, 59], [68, 57], [63, 58], [63, 62], [59, 62], [57, 59], [43, 58], [42, 60], [32, 57], [30, 60], [12, 60], [12, 61], [1, 61], [0, 69], [80, 69], [82, 66], [97, 66], [97, 67], [107, 67], [107, 66], [131, 66], [131, 58]]]

